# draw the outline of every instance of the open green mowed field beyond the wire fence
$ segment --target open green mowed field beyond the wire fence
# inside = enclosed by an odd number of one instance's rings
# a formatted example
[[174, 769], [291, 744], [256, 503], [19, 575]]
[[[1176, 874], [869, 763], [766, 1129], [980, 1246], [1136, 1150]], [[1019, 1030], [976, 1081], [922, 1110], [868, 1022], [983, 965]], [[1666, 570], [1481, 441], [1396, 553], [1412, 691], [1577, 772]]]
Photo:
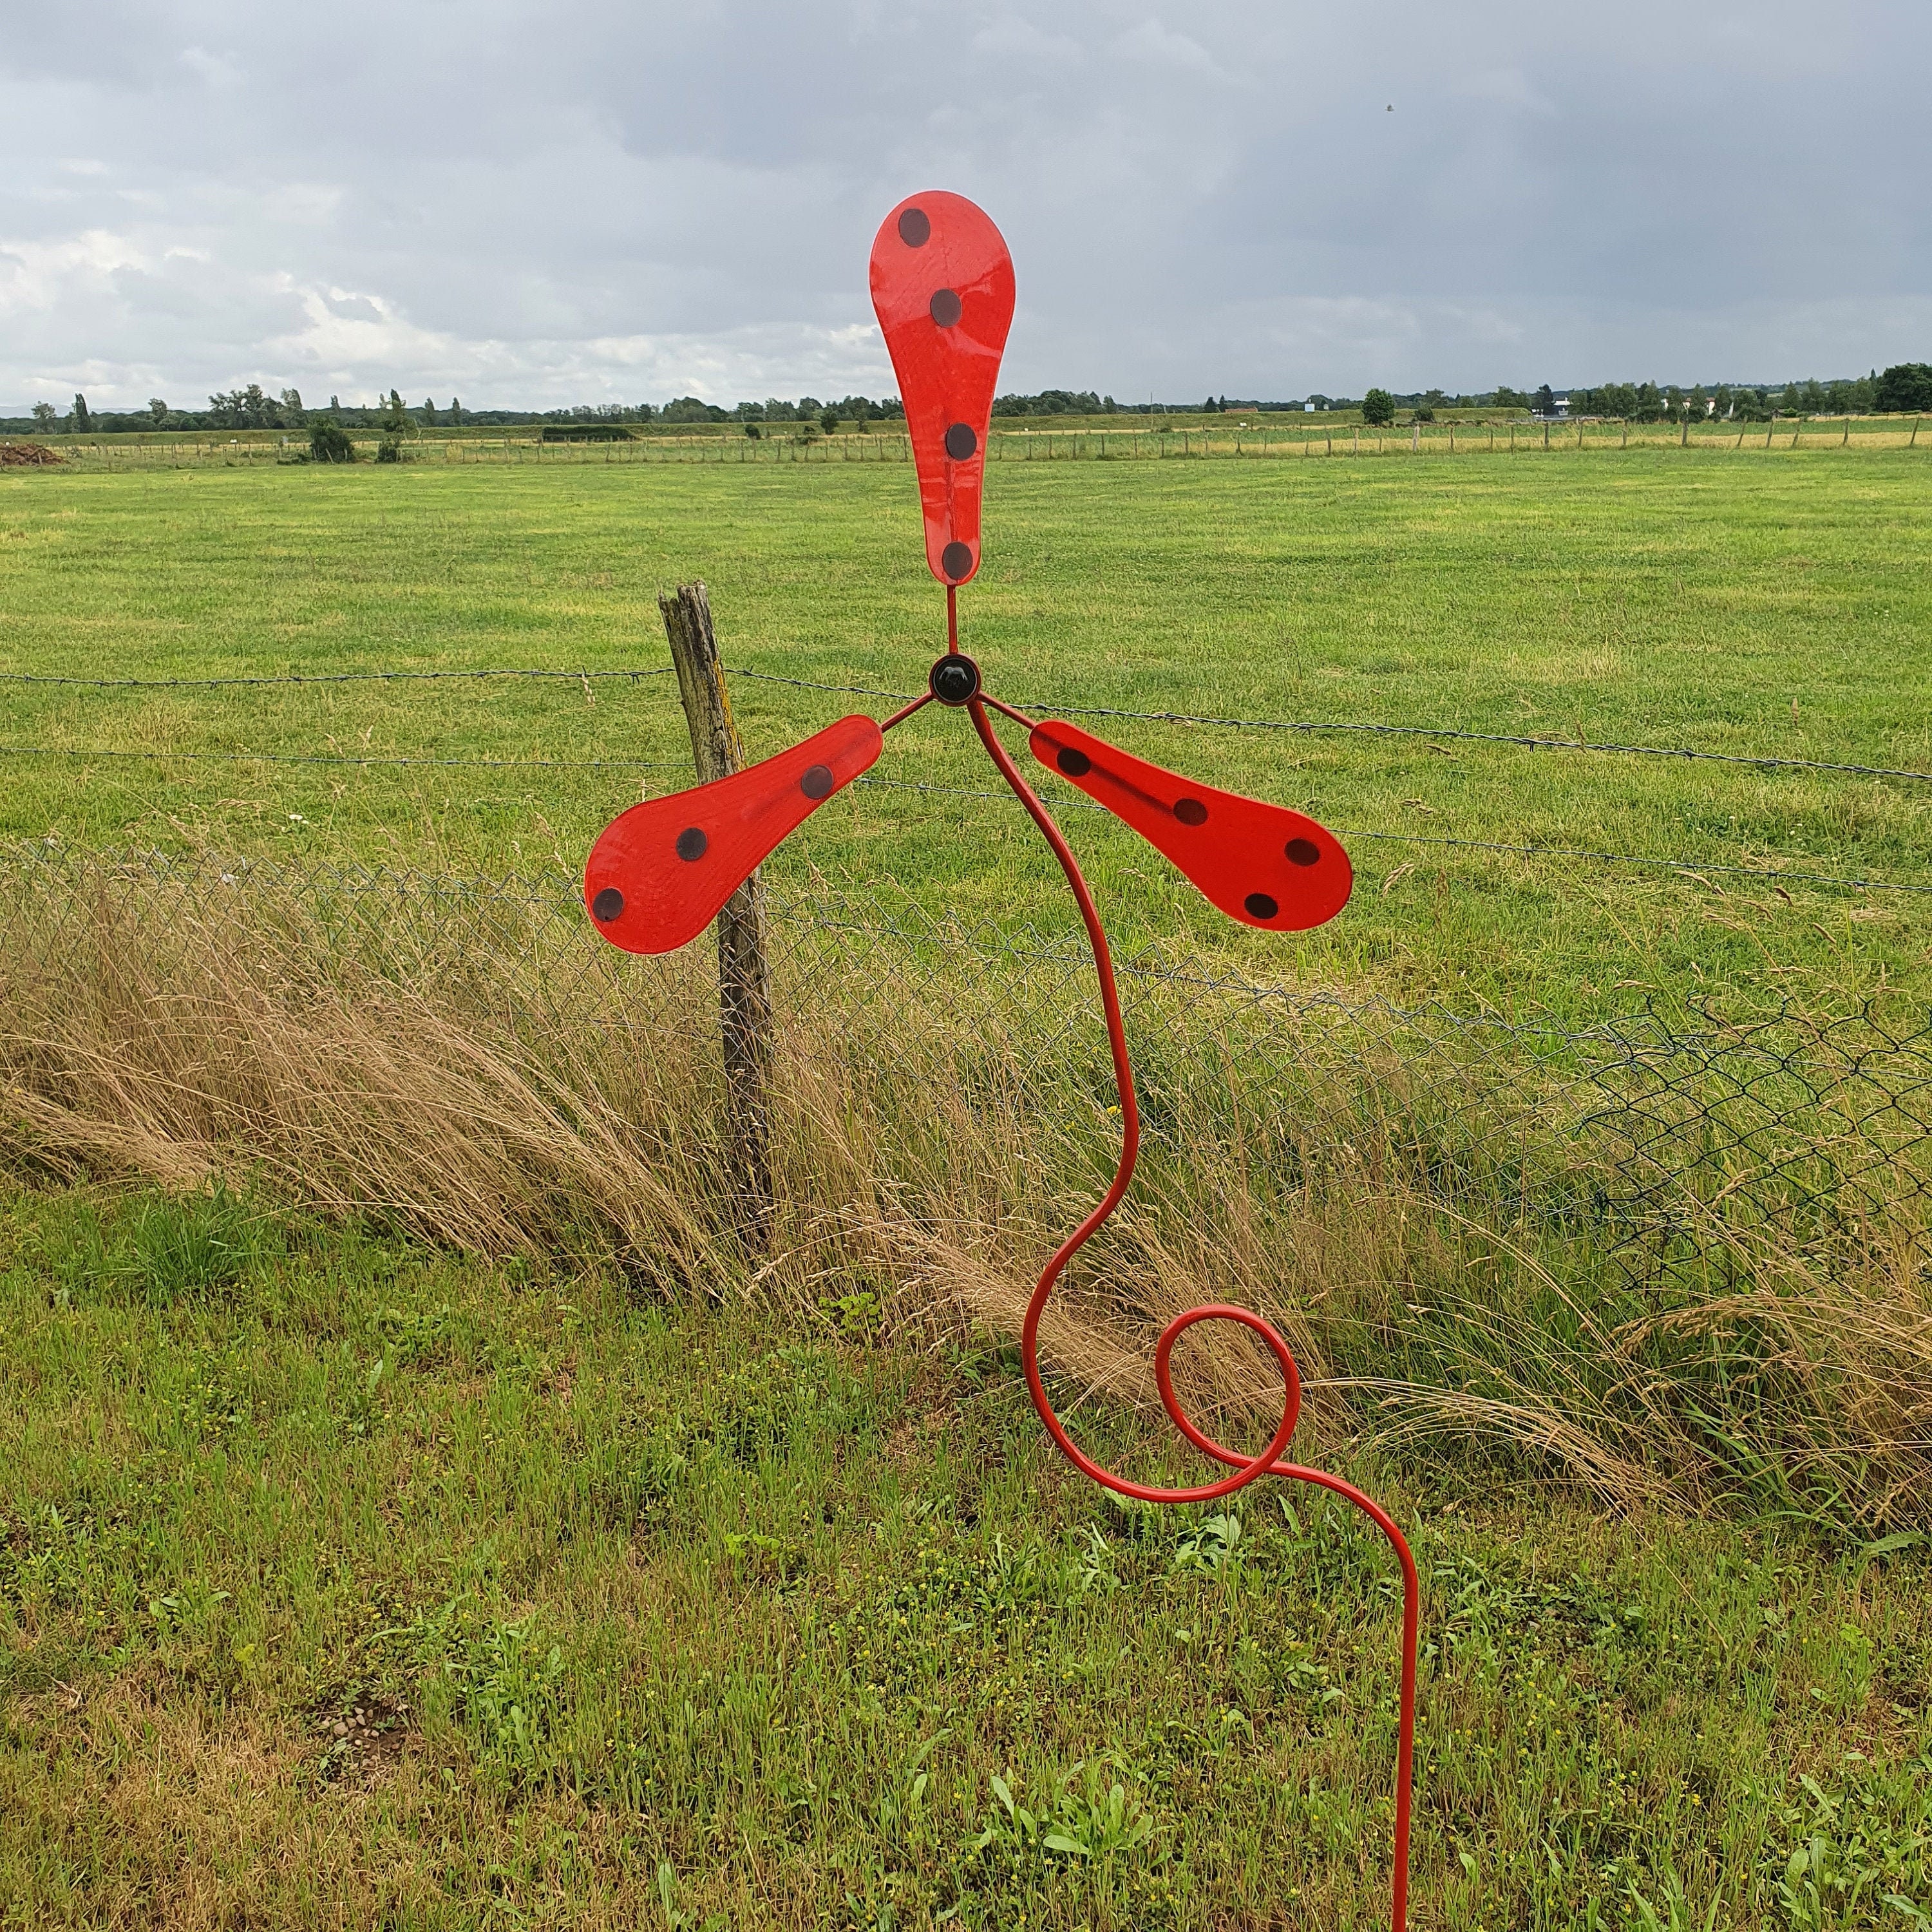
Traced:
[[[1932, 769], [1920, 452], [1001, 466], [964, 645], [1016, 699], [1437, 724]], [[33, 473], [0, 481], [0, 668], [209, 676], [665, 665], [655, 593], [703, 578], [728, 663], [916, 690], [941, 643], [904, 466]], [[740, 680], [755, 753], [885, 699]], [[572, 873], [686, 782], [668, 678], [79, 694], [0, 686], [0, 829], [211, 838]], [[1571, 1014], [1747, 985], [1932, 983], [1932, 784], [1455, 740], [1092, 721], [1349, 835], [1354, 902], [1235, 931], [1132, 835], [1070, 811], [1128, 941], [1271, 978]], [[89, 752], [639, 761], [298, 765]], [[960, 719], [889, 740], [775, 864], [1065, 925], [1051, 860]], [[939, 786], [910, 790], [906, 786]], [[1065, 796], [1065, 788], [1061, 788]], [[1675, 858], [1700, 877], [1470, 842]]]

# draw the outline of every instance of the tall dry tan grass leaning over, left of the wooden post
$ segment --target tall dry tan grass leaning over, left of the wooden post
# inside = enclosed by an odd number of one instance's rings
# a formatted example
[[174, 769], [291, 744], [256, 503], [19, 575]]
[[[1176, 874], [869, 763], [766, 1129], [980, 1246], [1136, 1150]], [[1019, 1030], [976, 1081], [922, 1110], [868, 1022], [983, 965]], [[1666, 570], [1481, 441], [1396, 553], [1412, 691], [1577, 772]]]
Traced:
[[81, 949], [12, 962], [4, 1092], [31, 1146], [176, 1186], [253, 1169], [458, 1248], [535, 1250], [583, 1219], [723, 1283], [694, 1206], [692, 1034], [626, 1037], [618, 1012], [539, 1049], [408, 983], [325, 970], [317, 937], [197, 916], [156, 947], [104, 906]]

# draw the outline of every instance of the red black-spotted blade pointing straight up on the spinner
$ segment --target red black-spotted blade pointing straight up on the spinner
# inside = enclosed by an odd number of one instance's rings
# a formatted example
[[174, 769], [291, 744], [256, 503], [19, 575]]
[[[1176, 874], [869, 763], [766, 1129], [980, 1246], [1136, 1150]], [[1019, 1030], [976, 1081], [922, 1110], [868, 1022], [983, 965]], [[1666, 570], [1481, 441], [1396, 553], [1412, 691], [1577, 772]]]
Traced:
[[908, 195], [871, 243], [871, 305], [906, 404], [941, 583], [980, 568], [980, 489], [999, 357], [1012, 327], [1012, 257], [964, 195]]

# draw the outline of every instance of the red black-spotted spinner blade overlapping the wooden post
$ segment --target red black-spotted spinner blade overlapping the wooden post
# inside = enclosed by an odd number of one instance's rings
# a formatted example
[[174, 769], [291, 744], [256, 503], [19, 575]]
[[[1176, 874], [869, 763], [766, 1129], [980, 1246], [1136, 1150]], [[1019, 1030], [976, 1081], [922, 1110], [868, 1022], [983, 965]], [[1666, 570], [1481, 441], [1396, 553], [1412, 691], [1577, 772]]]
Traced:
[[790, 752], [612, 819], [583, 867], [597, 931], [626, 952], [672, 952], [835, 792], [879, 757], [879, 726], [840, 719]]

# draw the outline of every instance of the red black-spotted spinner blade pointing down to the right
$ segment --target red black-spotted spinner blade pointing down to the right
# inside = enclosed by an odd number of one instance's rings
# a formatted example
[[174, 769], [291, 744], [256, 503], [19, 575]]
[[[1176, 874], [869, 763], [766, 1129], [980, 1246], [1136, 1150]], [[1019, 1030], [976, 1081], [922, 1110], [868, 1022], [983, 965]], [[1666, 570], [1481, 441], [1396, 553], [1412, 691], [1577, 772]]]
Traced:
[[1349, 854], [1300, 811], [1196, 784], [1061, 719], [1036, 724], [1032, 746], [1041, 765], [1126, 819], [1231, 920], [1302, 933], [1349, 904]]

